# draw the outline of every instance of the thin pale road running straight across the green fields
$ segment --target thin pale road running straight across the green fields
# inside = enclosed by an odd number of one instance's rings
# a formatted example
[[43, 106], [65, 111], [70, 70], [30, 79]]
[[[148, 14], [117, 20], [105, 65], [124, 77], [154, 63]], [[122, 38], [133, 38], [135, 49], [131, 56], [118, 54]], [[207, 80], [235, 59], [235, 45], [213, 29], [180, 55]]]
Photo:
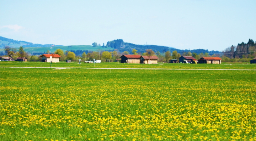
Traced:
[[[35, 68], [35, 67], [1, 67], [1, 68]], [[36, 67], [36, 68], [50, 68], [50, 67]], [[52, 67], [52, 69], [71, 69], [71, 68]], [[163, 69], [163, 70], [256, 71], [256, 69], [184, 69], [184, 68], [79, 68], [79, 69]]]

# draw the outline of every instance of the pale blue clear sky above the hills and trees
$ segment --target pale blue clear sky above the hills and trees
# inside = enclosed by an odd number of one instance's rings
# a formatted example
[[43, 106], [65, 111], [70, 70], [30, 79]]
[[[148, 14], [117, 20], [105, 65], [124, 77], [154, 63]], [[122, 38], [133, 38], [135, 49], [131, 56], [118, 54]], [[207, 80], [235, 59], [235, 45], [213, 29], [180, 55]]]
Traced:
[[0, 1], [0, 36], [34, 44], [123, 39], [223, 51], [256, 40], [256, 1]]

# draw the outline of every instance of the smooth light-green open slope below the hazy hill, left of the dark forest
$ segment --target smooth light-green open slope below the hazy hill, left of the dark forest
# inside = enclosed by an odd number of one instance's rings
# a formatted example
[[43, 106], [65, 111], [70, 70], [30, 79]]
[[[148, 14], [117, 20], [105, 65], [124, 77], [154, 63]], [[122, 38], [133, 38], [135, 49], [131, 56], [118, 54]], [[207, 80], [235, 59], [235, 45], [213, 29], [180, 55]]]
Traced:
[[[26, 52], [46, 52], [49, 50], [50, 52], [54, 52], [57, 49], [62, 49], [64, 51], [66, 50], [88, 50], [88, 51], [97, 51], [100, 50], [114, 50], [111, 47], [101, 47], [101, 46], [91, 46], [91, 45], [77, 45], [77, 46], [54, 46], [54, 47], [24, 47], [24, 50]], [[18, 48], [17, 48], [18, 50]], [[4, 49], [1, 49], [0, 51], [4, 51]]]

